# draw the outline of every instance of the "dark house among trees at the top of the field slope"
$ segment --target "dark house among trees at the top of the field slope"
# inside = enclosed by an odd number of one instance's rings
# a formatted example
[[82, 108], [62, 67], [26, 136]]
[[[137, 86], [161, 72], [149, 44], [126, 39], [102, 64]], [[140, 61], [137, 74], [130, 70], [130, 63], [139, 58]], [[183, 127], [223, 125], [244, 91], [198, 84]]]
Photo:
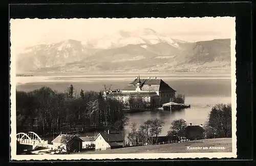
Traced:
[[179, 137], [185, 137], [188, 140], [201, 140], [204, 139], [204, 128], [203, 125], [195, 125], [193, 126], [192, 123], [190, 123], [189, 126], [183, 128], [180, 130], [177, 135]]

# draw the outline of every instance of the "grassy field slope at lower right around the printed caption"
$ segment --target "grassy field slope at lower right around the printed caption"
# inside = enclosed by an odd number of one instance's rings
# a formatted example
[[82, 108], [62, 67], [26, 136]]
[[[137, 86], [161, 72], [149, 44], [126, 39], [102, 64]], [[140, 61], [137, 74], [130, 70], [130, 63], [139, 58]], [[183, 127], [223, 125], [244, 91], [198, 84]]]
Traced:
[[[188, 147], [207, 147], [201, 150], [191, 150]], [[212, 149], [210, 147], [224, 147], [224, 149]], [[232, 139], [231, 138], [221, 138], [221, 139], [207, 139], [190, 141], [183, 143], [174, 144], [164, 144], [164, 145], [150, 145], [150, 146], [140, 146], [140, 147], [128, 147], [120, 149], [111, 150], [101, 150], [101, 151], [90, 151], [81, 152], [86, 154], [125, 154], [125, 153], [198, 153], [198, 152], [232, 152]]]

